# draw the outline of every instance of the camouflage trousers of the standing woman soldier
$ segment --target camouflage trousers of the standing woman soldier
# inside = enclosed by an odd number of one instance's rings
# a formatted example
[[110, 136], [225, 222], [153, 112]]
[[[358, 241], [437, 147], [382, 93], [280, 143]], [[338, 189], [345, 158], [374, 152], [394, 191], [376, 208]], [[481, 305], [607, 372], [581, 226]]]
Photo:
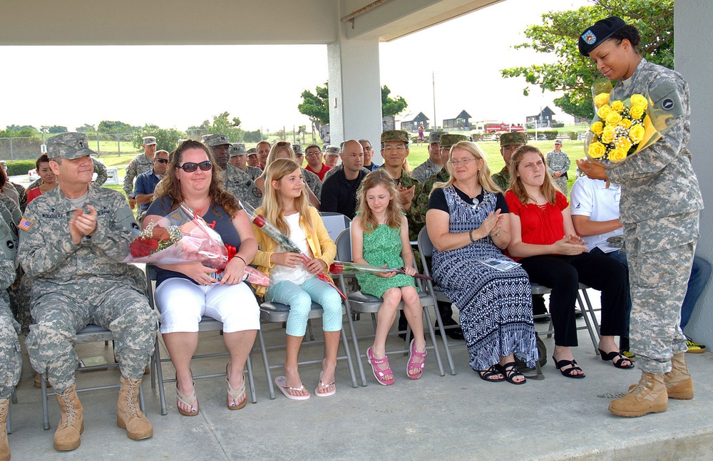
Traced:
[[680, 328], [696, 249], [698, 212], [624, 224], [632, 309], [630, 350], [642, 371], [671, 371], [674, 354], [687, 351]]

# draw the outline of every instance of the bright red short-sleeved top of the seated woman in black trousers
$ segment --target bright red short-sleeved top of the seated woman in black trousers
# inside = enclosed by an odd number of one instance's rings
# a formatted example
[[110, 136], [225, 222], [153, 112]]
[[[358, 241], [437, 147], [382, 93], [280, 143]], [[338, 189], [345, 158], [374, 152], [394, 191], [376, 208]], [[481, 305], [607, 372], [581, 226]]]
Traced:
[[[550, 245], [565, 237], [562, 210], [570, 204], [562, 192], [557, 192], [554, 205], [547, 203], [542, 207], [534, 203], [521, 204], [511, 190], [506, 192], [505, 200], [510, 212], [520, 217], [523, 243]], [[513, 259], [518, 261], [522, 258]]]

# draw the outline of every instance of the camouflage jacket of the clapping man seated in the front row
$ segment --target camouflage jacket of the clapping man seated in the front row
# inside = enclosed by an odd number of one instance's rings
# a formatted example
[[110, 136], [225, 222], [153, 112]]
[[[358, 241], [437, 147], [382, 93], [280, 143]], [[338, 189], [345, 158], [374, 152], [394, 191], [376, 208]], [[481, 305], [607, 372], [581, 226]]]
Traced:
[[92, 237], [83, 237], [78, 245], [72, 242], [68, 224], [76, 208], [60, 187], [27, 207], [18, 257], [32, 278], [33, 303], [52, 291], [81, 303], [112, 286], [136, 286], [131, 265], [117, 262], [128, 255], [133, 232], [138, 231], [126, 200], [114, 190], [90, 185], [87, 205], [96, 208], [97, 227]]

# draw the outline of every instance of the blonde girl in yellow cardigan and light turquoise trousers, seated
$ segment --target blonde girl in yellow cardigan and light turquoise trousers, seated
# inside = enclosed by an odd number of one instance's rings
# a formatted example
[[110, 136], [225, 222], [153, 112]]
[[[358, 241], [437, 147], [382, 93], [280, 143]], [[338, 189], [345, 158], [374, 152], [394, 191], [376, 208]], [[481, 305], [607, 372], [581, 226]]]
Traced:
[[307, 200], [302, 181], [302, 170], [297, 162], [281, 158], [265, 169], [265, 195], [262, 207], [257, 212], [296, 243], [304, 254], [311, 258], [302, 263], [297, 253], [285, 252], [275, 241], [253, 225], [260, 250], [252, 264], [270, 276], [270, 287], [257, 287], [257, 294], [265, 299], [289, 304], [287, 317], [287, 353], [284, 361], [284, 376], [275, 378], [275, 383], [284, 395], [292, 400], [309, 398], [297, 371], [299, 346], [307, 329], [307, 315], [312, 301], [322, 305], [324, 316], [325, 356], [322, 373], [314, 394], [318, 397], [334, 395], [334, 371], [337, 368], [339, 332], [342, 330], [342, 299], [337, 290], [315, 275], [327, 271], [337, 254], [337, 246], [329, 238], [317, 209]]

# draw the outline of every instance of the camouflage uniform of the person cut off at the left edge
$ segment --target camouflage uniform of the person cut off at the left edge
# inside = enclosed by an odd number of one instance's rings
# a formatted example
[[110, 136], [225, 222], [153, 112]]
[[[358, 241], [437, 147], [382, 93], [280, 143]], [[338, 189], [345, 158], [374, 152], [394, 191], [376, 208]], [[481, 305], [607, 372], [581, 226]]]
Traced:
[[22, 351], [17, 337], [20, 325], [10, 311], [9, 297], [4, 290], [15, 280], [17, 230], [5, 212], [0, 220], [0, 399], [10, 398], [20, 380]]

